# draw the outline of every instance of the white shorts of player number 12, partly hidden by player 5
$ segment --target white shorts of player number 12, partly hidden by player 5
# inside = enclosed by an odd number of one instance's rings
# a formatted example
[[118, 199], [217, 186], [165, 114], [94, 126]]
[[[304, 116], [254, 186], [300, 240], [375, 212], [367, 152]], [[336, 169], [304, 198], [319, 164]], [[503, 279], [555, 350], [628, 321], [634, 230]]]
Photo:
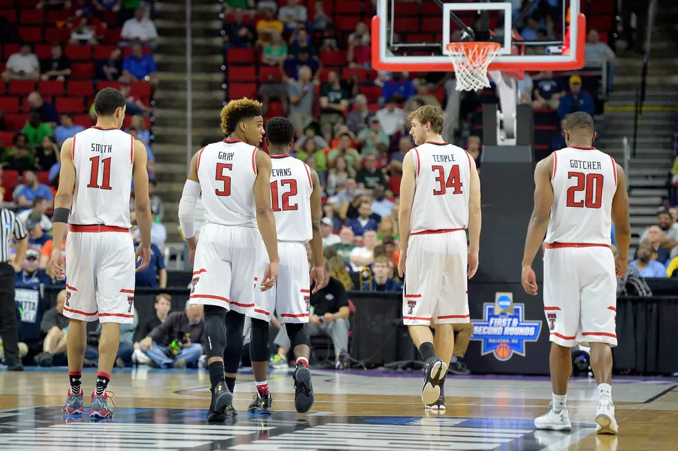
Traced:
[[[311, 277], [306, 246], [303, 243], [278, 241], [278, 254], [278, 281], [268, 291], [255, 291], [255, 308], [248, 316], [270, 322], [275, 311], [280, 322], [309, 322]], [[259, 270], [262, 275], [266, 265], [268, 256], [262, 252]]]

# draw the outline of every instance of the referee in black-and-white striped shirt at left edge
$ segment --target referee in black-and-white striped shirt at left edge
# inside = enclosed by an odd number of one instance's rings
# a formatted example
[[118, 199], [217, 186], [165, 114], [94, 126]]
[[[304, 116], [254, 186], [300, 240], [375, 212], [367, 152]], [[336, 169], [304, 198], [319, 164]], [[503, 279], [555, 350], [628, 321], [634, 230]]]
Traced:
[[[17, 240], [17, 255], [12, 261], [12, 235]], [[10, 371], [23, 371], [19, 358], [19, 333], [15, 305], [14, 277], [24, 262], [28, 236], [15, 212], [0, 208], [0, 338], [5, 349], [5, 363]]]

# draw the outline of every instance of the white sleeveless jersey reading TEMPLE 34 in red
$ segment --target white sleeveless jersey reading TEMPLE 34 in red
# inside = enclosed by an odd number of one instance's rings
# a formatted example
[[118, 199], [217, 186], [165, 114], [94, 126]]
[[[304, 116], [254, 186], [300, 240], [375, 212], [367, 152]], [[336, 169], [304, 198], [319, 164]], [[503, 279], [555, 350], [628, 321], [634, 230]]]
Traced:
[[410, 154], [416, 173], [412, 233], [466, 228], [473, 164], [470, 155], [447, 142], [425, 142]]

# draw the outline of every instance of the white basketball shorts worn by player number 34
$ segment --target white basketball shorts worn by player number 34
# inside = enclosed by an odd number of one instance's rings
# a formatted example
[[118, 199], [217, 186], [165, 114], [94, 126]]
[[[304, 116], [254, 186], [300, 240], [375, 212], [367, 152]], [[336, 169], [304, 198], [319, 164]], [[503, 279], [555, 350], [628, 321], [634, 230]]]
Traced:
[[466, 233], [410, 236], [405, 261], [403, 322], [407, 326], [468, 322]]

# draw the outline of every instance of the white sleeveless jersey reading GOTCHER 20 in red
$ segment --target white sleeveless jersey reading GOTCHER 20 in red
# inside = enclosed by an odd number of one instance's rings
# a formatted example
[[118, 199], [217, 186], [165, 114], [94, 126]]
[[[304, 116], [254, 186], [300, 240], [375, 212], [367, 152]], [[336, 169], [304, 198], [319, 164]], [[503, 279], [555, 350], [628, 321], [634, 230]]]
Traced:
[[547, 243], [610, 246], [612, 198], [617, 187], [614, 158], [594, 147], [553, 152], [553, 205]]

